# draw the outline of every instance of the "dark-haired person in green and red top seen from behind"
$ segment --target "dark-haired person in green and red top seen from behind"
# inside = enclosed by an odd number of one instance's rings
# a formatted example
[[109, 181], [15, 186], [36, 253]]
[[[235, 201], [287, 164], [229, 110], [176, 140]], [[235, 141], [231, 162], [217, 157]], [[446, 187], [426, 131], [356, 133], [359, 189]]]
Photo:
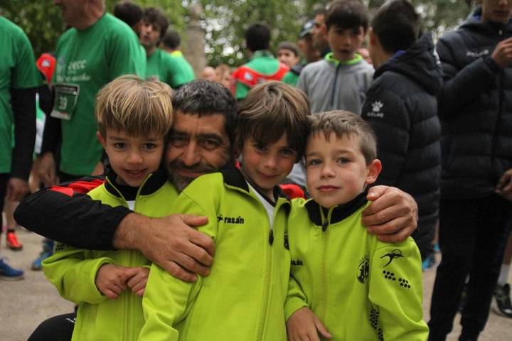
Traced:
[[289, 67], [270, 53], [270, 29], [262, 23], [253, 23], [245, 32], [249, 62], [233, 72], [232, 92], [237, 100], [245, 99], [255, 85], [267, 80], [282, 80]]

